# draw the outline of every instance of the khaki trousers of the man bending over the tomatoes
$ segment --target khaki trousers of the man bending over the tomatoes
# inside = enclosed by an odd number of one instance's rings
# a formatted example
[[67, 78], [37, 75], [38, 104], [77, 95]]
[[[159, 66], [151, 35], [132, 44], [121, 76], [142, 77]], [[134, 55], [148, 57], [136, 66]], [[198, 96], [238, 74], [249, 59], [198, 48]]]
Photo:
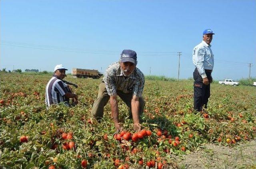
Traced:
[[[117, 90], [117, 95], [125, 102], [125, 104], [130, 108], [129, 110], [129, 118], [132, 118], [132, 106], [131, 106], [131, 100], [132, 100], [132, 92], [130, 93], [124, 93], [120, 90]], [[105, 83], [100, 83], [99, 85], [99, 92], [98, 97], [96, 100], [94, 100], [94, 104], [92, 107], [92, 117], [96, 118], [97, 120], [101, 119], [103, 117], [103, 110], [104, 106], [108, 103], [110, 96], [108, 95], [108, 92], [106, 90]], [[140, 110], [139, 115], [142, 115], [145, 102], [142, 97], [139, 99], [140, 102]]]

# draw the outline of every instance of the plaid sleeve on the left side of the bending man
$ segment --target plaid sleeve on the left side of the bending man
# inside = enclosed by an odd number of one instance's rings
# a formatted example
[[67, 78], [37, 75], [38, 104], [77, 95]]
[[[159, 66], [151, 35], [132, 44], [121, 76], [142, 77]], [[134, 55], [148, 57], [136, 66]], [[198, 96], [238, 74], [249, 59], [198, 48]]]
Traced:
[[109, 96], [116, 94], [116, 85], [115, 85], [115, 73], [111, 69], [106, 69], [103, 81], [106, 85], [106, 90]]

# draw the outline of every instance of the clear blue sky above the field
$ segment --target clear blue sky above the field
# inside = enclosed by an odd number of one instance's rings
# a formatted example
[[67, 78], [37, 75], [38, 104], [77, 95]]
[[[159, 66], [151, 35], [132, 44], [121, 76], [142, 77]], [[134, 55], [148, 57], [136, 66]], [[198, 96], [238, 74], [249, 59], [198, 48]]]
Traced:
[[138, 55], [145, 74], [192, 77], [192, 49], [211, 28], [214, 79], [256, 77], [255, 0], [1, 0], [0, 69], [98, 69]]

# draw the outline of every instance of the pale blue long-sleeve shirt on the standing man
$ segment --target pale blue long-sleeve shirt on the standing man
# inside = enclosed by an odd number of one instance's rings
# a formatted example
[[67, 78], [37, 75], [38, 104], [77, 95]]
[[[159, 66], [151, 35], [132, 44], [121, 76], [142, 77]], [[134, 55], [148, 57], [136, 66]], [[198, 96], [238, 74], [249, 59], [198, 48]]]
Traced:
[[208, 45], [205, 41], [196, 45], [193, 49], [192, 59], [201, 77], [206, 78], [204, 69], [212, 70], [214, 66], [211, 45]]

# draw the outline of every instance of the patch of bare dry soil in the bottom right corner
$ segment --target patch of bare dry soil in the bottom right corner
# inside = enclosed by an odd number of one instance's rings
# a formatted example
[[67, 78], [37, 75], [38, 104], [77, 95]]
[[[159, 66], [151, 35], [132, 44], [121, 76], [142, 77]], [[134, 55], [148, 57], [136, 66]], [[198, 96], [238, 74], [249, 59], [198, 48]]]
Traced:
[[175, 158], [181, 169], [256, 169], [256, 140], [234, 147], [209, 143]]

